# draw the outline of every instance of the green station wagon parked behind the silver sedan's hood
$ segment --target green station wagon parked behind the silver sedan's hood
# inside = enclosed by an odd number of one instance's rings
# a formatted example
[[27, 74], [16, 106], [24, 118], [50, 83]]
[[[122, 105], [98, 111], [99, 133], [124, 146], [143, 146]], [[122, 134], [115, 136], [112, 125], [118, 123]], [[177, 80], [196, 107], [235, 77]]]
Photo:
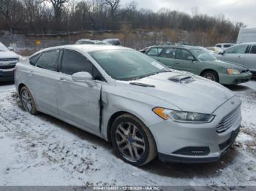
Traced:
[[245, 66], [219, 61], [201, 47], [154, 46], [146, 52], [170, 69], [189, 71], [223, 85], [248, 82], [252, 74]]

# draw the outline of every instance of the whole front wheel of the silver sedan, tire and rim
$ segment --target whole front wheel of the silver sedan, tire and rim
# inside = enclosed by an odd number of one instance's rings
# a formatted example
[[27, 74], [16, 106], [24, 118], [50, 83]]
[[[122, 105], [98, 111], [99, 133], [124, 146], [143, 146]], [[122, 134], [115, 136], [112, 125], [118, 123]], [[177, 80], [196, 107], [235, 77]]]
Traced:
[[117, 154], [132, 165], [145, 165], [157, 156], [151, 132], [131, 114], [123, 114], [113, 122], [111, 139]]

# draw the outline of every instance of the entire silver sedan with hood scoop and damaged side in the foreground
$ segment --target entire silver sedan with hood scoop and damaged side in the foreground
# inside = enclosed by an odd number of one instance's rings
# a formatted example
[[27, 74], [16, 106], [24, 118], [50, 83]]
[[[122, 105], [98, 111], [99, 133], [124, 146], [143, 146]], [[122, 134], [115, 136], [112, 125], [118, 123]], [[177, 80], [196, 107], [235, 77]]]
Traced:
[[50, 114], [110, 141], [127, 163], [206, 163], [225, 154], [241, 101], [216, 82], [167, 69], [127, 47], [52, 47], [18, 63], [24, 109]]

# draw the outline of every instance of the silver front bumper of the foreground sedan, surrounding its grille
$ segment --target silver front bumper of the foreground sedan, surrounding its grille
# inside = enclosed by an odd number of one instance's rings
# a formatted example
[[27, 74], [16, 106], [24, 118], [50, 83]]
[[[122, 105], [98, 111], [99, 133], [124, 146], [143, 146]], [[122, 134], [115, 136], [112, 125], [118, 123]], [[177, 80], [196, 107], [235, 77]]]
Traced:
[[[231, 98], [213, 113], [216, 117], [210, 123], [163, 120], [149, 127], [157, 144], [159, 159], [176, 163], [208, 163], [219, 160], [236, 140], [241, 125], [241, 114], [225, 132], [217, 133], [217, 126], [223, 117], [237, 109], [240, 104], [241, 101], [236, 96]], [[191, 148], [195, 152], [187, 155], [184, 151]], [[205, 152], [199, 152], [201, 148]]]

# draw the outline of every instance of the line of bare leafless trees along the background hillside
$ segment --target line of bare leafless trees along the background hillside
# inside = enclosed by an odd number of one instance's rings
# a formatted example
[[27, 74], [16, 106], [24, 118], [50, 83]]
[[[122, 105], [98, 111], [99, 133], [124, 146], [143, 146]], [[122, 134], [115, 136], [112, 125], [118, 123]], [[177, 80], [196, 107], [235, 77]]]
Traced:
[[121, 0], [1, 0], [0, 29], [20, 34], [57, 31], [149, 30], [189, 31], [235, 41], [244, 23], [232, 23], [224, 15], [211, 17], [170, 9], [153, 12], [138, 9], [137, 2]]

